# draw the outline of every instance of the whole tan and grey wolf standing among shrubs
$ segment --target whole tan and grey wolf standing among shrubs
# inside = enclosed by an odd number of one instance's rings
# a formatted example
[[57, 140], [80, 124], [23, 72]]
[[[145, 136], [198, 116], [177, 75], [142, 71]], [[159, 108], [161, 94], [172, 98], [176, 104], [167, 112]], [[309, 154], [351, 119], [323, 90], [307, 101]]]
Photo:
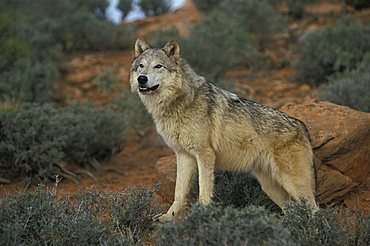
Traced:
[[184, 209], [196, 170], [199, 202], [209, 204], [216, 168], [252, 172], [282, 209], [300, 198], [316, 207], [313, 153], [303, 122], [210, 83], [180, 56], [175, 40], [163, 48], [136, 40], [130, 86], [176, 153], [174, 202], [160, 222]]

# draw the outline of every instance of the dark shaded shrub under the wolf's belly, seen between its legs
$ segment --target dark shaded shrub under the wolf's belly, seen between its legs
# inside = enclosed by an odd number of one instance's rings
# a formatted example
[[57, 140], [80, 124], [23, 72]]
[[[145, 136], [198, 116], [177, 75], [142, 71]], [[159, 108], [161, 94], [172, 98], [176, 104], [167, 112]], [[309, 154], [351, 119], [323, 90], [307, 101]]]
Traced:
[[[198, 177], [196, 176], [191, 189], [192, 200], [198, 198], [198, 190]], [[213, 201], [223, 207], [243, 208], [255, 205], [271, 211], [280, 211], [280, 208], [262, 191], [258, 180], [246, 172], [217, 171]]]

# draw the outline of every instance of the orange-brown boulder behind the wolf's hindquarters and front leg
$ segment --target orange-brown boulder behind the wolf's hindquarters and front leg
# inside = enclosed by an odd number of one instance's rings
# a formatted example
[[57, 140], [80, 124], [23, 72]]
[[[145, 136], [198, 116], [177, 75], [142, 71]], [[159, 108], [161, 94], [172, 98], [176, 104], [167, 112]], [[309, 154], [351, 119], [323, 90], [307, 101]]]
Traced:
[[[320, 204], [345, 198], [370, 173], [370, 114], [329, 102], [286, 105], [281, 111], [303, 121], [312, 139]], [[156, 170], [165, 197], [173, 197], [175, 157], [161, 158]]]

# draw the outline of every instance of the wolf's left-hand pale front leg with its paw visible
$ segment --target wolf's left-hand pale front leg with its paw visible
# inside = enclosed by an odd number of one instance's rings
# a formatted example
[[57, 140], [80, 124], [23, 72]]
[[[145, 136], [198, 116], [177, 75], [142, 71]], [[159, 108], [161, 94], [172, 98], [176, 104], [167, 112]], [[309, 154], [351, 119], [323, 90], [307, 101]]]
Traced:
[[173, 220], [186, 205], [186, 196], [189, 193], [191, 178], [196, 168], [195, 159], [185, 153], [176, 153], [176, 162], [175, 200], [167, 213], [159, 217], [158, 220], [162, 223]]

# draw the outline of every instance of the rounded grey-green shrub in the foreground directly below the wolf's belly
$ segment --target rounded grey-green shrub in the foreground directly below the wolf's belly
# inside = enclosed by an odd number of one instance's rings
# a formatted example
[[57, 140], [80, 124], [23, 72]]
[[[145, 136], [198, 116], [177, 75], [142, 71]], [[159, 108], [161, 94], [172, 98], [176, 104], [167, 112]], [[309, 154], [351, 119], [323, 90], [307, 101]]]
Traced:
[[161, 225], [158, 245], [293, 245], [266, 210], [194, 205], [184, 220]]

